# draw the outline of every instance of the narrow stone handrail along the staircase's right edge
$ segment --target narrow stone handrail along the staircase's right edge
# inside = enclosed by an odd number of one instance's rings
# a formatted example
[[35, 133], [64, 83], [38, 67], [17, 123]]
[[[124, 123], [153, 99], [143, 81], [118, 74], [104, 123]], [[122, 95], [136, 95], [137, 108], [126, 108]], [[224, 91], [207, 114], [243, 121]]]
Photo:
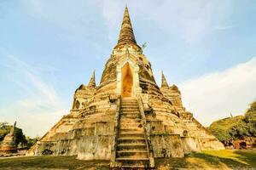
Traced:
[[141, 96], [137, 96], [137, 101], [138, 101], [138, 106], [140, 110], [140, 114], [142, 116], [142, 124], [145, 132], [145, 137], [146, 137], [146, 144], [148, 148], [148, 157], [149, 157], [149, 166], [154, 167], [154, 151], [153, 151], [153, 146], [151, 144], [151, 139], [150, 139], [150, 125], [147, 123], [146, 116], [144, 113], [144, 107], [143, 107], [143, 99]]

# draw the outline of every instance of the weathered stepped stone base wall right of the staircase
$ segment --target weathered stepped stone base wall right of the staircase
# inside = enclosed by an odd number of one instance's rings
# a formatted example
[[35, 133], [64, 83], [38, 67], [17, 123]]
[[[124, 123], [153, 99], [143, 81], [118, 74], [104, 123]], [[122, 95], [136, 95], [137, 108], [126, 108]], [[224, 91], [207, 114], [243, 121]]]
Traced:
[[189, 152], [224, 149], [190, 112], [177, 110], [160, 98], [148, 96], [143, 96], [143, 104], [149, 108], [145, 113], [154, 157], [182, 157]]

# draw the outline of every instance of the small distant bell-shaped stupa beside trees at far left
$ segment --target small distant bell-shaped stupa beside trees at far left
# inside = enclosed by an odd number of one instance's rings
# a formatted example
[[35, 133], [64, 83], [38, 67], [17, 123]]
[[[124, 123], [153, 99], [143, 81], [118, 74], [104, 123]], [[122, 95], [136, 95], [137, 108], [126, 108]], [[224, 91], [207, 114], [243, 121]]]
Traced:
[[15, 127], [16, 122], [0, 144], [0, 153], [9, 154], [17, 152], [17, 144], [15, 142]]

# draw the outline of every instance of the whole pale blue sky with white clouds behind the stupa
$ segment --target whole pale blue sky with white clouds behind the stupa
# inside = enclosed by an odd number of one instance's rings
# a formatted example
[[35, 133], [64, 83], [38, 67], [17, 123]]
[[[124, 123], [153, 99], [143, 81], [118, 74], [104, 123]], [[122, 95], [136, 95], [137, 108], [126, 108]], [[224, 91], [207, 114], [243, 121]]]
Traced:
[[105, 62], [125, 3], [138, 44], [160, 82], [181, 88], [204, 125], [256, 99], [255, 1], [0, 1], [0, 122], [43, 135], [71, 108], [73, 92]]

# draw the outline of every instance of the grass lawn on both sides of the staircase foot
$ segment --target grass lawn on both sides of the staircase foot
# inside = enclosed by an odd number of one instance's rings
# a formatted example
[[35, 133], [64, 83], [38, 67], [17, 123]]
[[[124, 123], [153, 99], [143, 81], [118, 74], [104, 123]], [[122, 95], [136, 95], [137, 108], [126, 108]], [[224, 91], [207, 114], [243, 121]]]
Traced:
[[[183, 158], [155, 159], [157, 169], [256, 169], [256, 150], [209, 150]], [[0, 169], [109, 169], [109, 161], [75, 156], [20, 156], [0, 159]]]

